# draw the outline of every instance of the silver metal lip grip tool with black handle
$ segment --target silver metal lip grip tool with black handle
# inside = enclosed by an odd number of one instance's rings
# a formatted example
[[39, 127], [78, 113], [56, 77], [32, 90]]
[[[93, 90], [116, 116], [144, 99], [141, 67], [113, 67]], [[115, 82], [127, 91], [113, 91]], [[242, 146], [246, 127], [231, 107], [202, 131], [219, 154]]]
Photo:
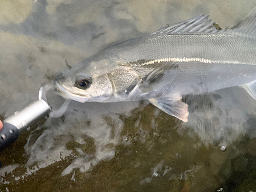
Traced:
[[26, 106], [23, 110], [15, 112], [14, 115], [4, 120], [4, 127], [0, 131], [0, 152], [14, 143], [20, 133], [34, 122], [45, 117], [51, 111], [46, 97], [43, 99], [43, 88], [39, 91], [39, 99]]

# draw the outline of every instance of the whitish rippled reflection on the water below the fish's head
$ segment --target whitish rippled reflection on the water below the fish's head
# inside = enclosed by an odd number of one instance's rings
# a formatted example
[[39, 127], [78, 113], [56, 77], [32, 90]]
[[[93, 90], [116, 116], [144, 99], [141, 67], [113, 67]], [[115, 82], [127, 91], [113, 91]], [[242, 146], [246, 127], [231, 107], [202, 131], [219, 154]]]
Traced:
[[[66, 144], [74, 141], [86, 144], [87, 138], [93, 138], [93, 154], [84, 153], [79, 147], [75, 150], [79, 155], [66, 167], [62, 175], [67, 175], [73, 169], [81, 172], [91, 170], [99, 161], [110, 160], [115, 155], [115, 146], [122, 141], [123, 121], [120, 114], [129, 116], [138, 107], [139, 102], [123, 103], [77, 103], [72, 102], [65, 114], [65, 120], [59, 125], [54, 119], [48, 119], [45, 130], [34, 143], [28, 140], [25, 150], [30, 156], [27, 166], [37, 163], [38, 167], [48, 166], [72, 154]], [[111, 121], [111, 122], [108, 122]]]

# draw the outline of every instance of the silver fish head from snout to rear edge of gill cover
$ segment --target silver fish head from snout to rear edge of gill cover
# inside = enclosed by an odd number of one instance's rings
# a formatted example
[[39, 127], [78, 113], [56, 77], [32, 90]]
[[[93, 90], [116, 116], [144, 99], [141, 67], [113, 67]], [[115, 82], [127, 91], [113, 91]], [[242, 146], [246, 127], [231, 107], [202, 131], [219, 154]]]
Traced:
[[137, 93], [142, 72], [120, 65], [118, 59], [88, 60], [56, 76], [59, 95], [79, 102], [117, 102]]

